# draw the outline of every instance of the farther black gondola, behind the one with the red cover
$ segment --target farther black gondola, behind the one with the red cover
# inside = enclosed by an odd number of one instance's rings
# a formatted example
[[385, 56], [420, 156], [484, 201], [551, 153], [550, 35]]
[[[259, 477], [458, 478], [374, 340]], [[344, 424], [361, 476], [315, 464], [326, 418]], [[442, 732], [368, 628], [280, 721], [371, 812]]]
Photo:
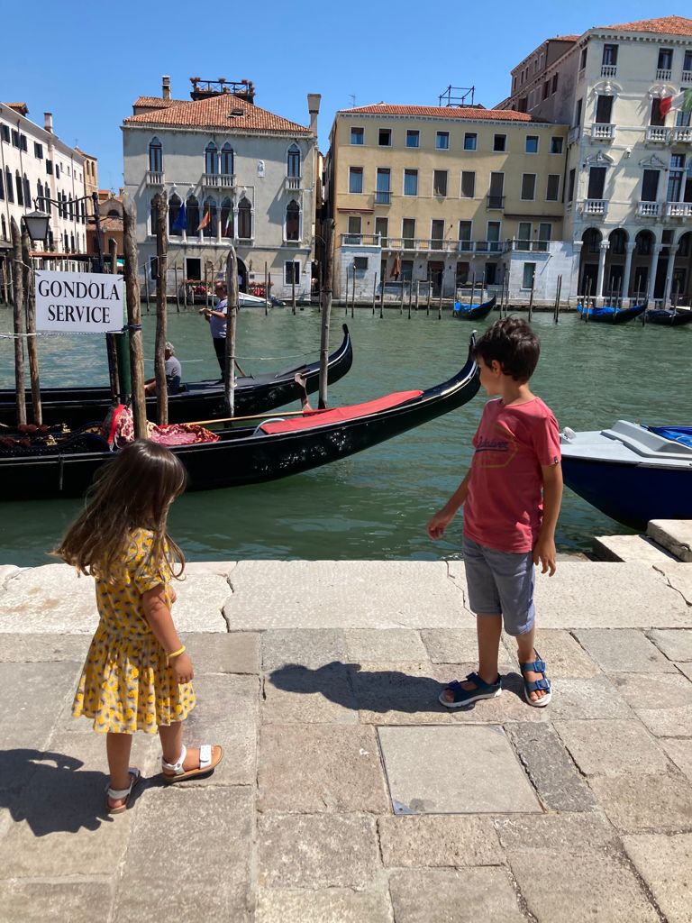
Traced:
[[[329, 356], [328, 381], [339, 381], [351, 368], [353, 361], [351, 335], [343, 325], [343, 342], [339, 349]], [[235, 413], [264, 414], [282, 404], [300, 400], [303, 391], [295, 382], [300, 372], [306, 379], [309, 393], [319, 387], [319, 362], [304, 366], [293, 366], [283, 372], [268, 372], [266, 375], [243, 376], [235, 379]], [[83, 426], [92, 420], [102, 420], [112, 404], [108, 388], [47, 388], [41, 391], [42, 421], [49, 426], [64, 423], [71, 429]], [[31, 392], [27, 391], [27, 407], [30, 415]], [[147, 399], [149, 419], [156, 417], [156, 397]], [[168, 397], [168, 419], [170, 423], [185, 423], [186, 420], [211, 420], [226, 415], [223, 400], [223, 384], [219, 381], [194, 381], [185, 385], [185, 390]], [[17, 402], [14, 390], [0, 390], [0, 424], [14, 426], [17, 423]]]

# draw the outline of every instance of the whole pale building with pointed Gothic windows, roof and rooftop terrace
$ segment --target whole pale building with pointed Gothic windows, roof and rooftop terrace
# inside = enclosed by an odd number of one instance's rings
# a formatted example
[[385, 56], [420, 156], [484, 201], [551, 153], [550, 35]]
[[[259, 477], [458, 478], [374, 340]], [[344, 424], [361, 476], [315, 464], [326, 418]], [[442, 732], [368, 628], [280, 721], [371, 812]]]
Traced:
[[296, 294], [309, 295], [319, 95], [308, 96], [305, 127], [254, 105], [251, 83], [192, 83], [192, 100], [175, 100], [164, 77], [161, 97], [140, 97], [123, 123], [140, 264], [153, 279], [152, 201], [166, 190], [169, 286], [174, 268], [179, 280], [221, 272], [233, 243], [243, 291], [264, 282], [267, 265], [272, 294], [291, 294], [294, 281]]

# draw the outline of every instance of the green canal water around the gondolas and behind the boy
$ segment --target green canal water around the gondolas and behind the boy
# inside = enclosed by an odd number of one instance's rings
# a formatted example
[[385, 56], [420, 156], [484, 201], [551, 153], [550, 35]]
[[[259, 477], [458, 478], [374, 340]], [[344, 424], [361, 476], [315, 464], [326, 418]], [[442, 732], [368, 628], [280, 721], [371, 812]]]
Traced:
[[[484, 330], [497, 318], [476, 326]], [[388, 309], [384, 318], [369, 309], [332, 314], [331, 348], [340, 325], [352, 331], [351, 372], [329, 388], [329, 403], [354, 403], [390, 391], [426, 388], [463, 365], [473, 325], [445, 310], [412, 317]], [[168, 338], [183, 364], [184, 380], [216, 378], [218, 366], [209, 326], [197, 311], [168, 317]], [[314, 307], [242, 311], [237, 354], [248, 373], [316, 359], [320, 316]], [[690, 422], [692, 329], [586, 324], [574, 314], [558, 324], [536, 314], [542, 357], [533, 390], [554, 410], [560, 426], [601, 429], [617, 419], [650, 424]], [[0, 331], [11, 329], [11, 312], [0, 308]], [[154, 318], [144, 318], [146, 355], [152, 355]], [[42, 384], [78, 385], [107, 381], [101, 338], [42, 337]], [[153, 363], [147, 360], [147, 374]], [[0, 339], [0, 387], [14, 385], [13, 344]], [[425, 533], [430, 515], [459, 484], [471, 459], [471, 437], [484, 394], [452, 414], [390, 439], [373, 449], [315, 471], [263, 485], [188, 494], [178, 499], [171, 532], [191, 560], [237, 558], [412, 558], [459, 555], [461, 518], [445, 539]], [[292, 408], [284, 408], [292, 409]], [[47, 563], [78, 501], [0, 505], [0, 564]], [[624, 526], [566, 490], [557, 528], [558, 550], [588, 550], [594, 534], [626, 533]]]

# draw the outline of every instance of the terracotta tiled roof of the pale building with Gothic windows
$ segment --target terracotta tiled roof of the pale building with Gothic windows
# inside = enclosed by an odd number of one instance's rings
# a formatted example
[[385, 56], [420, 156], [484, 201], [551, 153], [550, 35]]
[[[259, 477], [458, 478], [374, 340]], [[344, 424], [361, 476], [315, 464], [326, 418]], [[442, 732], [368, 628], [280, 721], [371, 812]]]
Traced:
[[[140, 97], [142, 100], [146, 97]], [[156, 97], [154, 97], [156, 99]], [[260, 109], [250, 102], [241, 100], [233, 93], [210, 96], [207, 100], [189, 102], [173, 101], [175, 104], [166, 109], [149, 113], [130, 115], [124, 125], [181, 126], [194, 128], [223, 128], [226, 131], [281, 131], [292, 135], [309, 135], [310, 129], [290, 122], [280, 115]], [[233, 115], [233, 112], [243, 115]]]

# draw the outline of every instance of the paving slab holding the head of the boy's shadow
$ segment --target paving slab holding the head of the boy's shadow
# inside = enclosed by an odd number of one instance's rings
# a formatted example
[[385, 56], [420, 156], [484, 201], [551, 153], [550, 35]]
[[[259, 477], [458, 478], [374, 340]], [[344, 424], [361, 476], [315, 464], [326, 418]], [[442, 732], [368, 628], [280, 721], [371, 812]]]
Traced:
[[312, 670], [282, 666], [264, 678], [263, 724], [358, 724], [349, 671], [343, 664]]

